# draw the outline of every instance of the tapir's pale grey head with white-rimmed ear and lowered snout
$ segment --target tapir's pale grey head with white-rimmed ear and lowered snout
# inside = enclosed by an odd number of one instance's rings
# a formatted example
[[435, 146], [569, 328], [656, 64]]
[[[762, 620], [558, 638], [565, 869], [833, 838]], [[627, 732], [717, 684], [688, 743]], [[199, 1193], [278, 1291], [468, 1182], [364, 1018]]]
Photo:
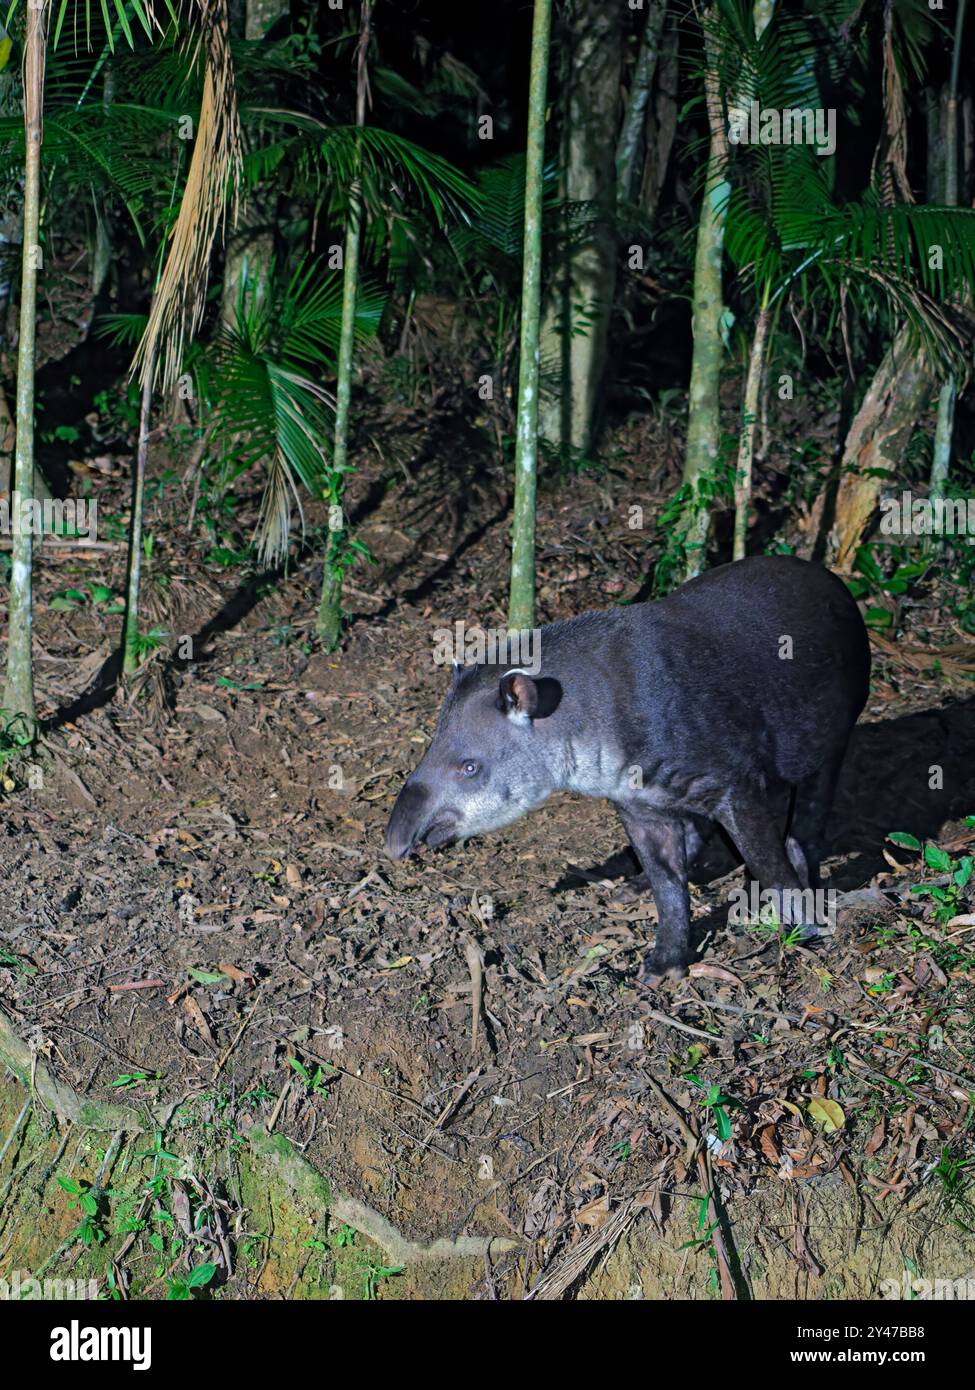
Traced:
[[392, 808], [387, 853], [405, 859], [421, 844], [467, 840], [541, 805], [558, 785], [545, 721], [561, 699], [549, 677], [455, 666], [434, 739]]

